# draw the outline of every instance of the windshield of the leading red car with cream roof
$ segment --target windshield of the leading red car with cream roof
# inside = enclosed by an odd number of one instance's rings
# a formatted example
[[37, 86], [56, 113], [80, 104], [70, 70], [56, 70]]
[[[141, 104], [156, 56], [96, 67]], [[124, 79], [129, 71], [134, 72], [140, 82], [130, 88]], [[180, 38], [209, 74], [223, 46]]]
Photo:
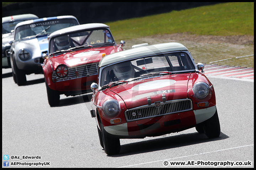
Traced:
[[112, 64], [100, 70], [100, 86], [114, 81], [140, 79], [166, 73], [194, 72], [195, 67], [185, 52], [166, 53]]

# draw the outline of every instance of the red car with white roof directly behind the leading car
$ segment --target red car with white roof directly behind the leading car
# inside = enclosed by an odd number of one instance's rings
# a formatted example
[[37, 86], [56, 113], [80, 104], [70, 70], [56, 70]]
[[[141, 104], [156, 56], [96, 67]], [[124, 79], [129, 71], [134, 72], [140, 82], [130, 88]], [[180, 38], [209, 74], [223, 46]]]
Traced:
[[76, 96], [91, 92], [98, 80], [98, 63], [104, 55], [122, 51], [109, 26], [102, 23], [82, 24], [60, 29], [49, 35], [49, 48], [42, 64], [48, 102], [57, 106], [60, 95]]

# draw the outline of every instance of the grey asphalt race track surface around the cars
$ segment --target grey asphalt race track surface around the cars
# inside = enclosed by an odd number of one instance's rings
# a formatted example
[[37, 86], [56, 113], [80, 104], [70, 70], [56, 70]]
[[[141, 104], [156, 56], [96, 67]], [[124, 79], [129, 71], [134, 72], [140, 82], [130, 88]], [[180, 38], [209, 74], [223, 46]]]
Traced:
[[208, 139], [192, 128], [121, 139], [121, 152], [113, 156], [100, 146], [91, 94], [61, 95], [60, 106], [50, 107], [42, 74], [18, 86], [11, 69], [2, 69], [2, 167], [8, 161], [12, 168], [254, 168], [254, 79], [213, 75], [208, 68], [220, 137]]

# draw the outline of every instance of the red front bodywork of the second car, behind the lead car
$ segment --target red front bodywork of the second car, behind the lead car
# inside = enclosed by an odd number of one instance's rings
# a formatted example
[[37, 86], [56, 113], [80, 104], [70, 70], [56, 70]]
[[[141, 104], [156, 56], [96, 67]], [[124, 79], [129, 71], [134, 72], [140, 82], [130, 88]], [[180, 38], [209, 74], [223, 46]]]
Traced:
[[[103, 46], [103, 47], [82, 49], [74, 52], [66, 52], [61, 55], [47, 58], [44, 61], [45, 65], [43, 66], [44, 77], [46, 79], [48, 86], [52, 90], [58, 90], [58, 91], [88, 90], [90, 89], [90, 85], [92, 82], [97, 82], [98, 75], [77, 78], [77, 79], [72, 79], [67, 81], [59, 81], [54, 83], [52, 81], [52, 69], [55, 70], [57, 66], [59, 66], [59, 64], [65, 64], [68, 67], [75, 67], [83, 64], [98, 63], [100, 62], [103, 53], [108, 55], [108, 54], [122, 51], [122, 50], [123, 49], [117, 45]], [[93, 55], [86, 54], [87, 52], [93, 53], [93, 51], [99, 51], [99, 52], [95, 52], [95, 54]], [[81, 57], [74, 57], [74, 55], [81, 55], [81, 53], [85, 53], [85, 55]], [[84, 60], [84, 58], [86, 58], [86, 60]], [[70, 63], [70, 61], [74, 61], [74, 62]], [[86, 86], [83, 85], [85, 82], [87, 82]]]

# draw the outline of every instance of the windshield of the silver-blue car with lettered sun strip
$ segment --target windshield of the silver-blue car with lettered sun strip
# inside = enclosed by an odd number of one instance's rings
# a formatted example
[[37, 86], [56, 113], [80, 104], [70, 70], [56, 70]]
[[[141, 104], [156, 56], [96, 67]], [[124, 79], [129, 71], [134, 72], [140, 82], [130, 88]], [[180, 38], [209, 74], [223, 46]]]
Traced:
[[16, 28], [14, 39], [20, 40], [28, 36], [33, 36], [41, 33], [50, 34], [56, 30], [66, 28], [66, 27], [76, 26], [76, 25], [78, 25], [78, 22], [72, 18], [52, 19], [52, 20], [46, 20], [46, 21], [40, 21], [40, 22], [33, 22], [33, 23], [22, 25]]

